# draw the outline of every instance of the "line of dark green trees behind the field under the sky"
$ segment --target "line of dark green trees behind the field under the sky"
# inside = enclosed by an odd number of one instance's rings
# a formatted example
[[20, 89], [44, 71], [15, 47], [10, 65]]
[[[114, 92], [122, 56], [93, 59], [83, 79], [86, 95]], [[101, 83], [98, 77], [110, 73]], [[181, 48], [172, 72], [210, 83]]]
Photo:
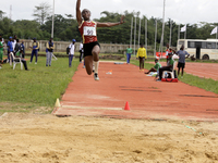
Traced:
[[[52, 16], [49, 12], [50, 7], [47, 3], [40, 3], [35, 7], [33, 16], [35, 20], [17, 20], [12, 21], [4, 16], [5, 13], [0, 11], [0, 34], [3, 38], [16, 35], [17, 38], [33, 39], [36, 37], [38, 40], [48, 40], [51, 34]], [[155, 45], [155, 26], [157, 21], [157, 43], [161, 39], [162, 20], [157, 17], [140, 16], [140, 12], [124, 12], [125, 23], [110, 28], [97, 28], [98, 41], [104, 43], [130, 43], [131, 38], [131, 22], [132, 17], [136, 17], [136, 45], [138, 43], [138, 26], [141, 20], [141, 42], [145, 42], [145, 20], [147, 20], [147, 43]], [[96, 22], [119, 22], [121, 14], [117, 12], [102, 11], [100, 18], [94, 18]], [[133, 18], [135, 20], [135, 18]], [[165, 39], [164, 45], [169, 42], [170, 38], [170, 23], [172, 26], [171, 45], [177, 46], [179, 24], [173, 20], [168, 18], [165, 23]], [[135, 22], [133, 23], [135, 24]], [[198, 24], [186, 24], [186, 39], [207, 39], [215, 38], [210, 36], [210, 32], [218, 23], [201, 22]], [[180, 24], [180, 28], [184, 24]], [[81, 41], [81, 35], [77, 28], [76, 18], [72, 14], [56, 14], [55, 15], [55, 30], [53, 40], [69, 41], [72, 39]], [[132, 43], [134, 43], [134, 25], [132, 32]], [[180, 38], [184, 38], [184, 33], [180, 33]]]

